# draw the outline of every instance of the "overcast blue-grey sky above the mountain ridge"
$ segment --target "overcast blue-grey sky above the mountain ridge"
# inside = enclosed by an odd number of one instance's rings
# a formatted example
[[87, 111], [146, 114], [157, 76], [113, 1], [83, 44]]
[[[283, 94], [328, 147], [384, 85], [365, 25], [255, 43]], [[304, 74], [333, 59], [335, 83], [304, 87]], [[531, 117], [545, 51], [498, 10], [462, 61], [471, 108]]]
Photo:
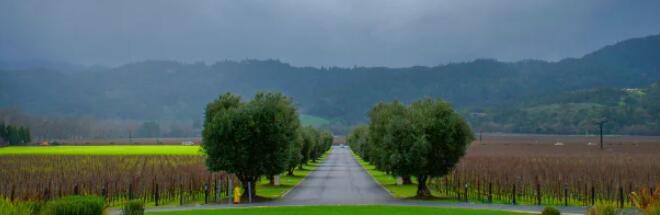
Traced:
[[558, 60], [659, 34], [659, 20], [657, 0], [2, 0], [0, 60]]

